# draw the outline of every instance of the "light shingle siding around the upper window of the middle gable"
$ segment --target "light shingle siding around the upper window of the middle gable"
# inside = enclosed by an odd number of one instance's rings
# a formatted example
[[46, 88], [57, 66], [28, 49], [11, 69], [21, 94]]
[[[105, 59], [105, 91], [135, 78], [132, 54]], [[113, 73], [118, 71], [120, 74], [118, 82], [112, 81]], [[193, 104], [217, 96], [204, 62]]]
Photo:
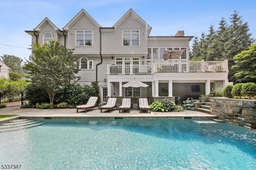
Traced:
[[[93, 30], [92, 46], [75, 46], [76, 30]], [[100, 31], [85, 15], [72, 26], [66, 39], [67, 48], [75, 48], [74, 53], [100, 53]]]

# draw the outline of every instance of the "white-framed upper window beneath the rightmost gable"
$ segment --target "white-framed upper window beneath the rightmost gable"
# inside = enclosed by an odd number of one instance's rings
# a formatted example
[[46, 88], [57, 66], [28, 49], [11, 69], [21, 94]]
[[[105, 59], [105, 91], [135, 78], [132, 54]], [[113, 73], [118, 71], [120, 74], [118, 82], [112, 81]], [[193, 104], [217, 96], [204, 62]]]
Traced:
[[123, 45], [139, 45], [138, 30], [123, 30]]

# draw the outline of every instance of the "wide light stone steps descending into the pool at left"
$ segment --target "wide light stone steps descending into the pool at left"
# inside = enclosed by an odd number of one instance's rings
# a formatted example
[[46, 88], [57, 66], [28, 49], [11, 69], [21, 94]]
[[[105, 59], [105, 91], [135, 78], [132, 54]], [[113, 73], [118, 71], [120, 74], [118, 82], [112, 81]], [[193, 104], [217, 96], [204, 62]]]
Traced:
[[29, 119], [18, 119], [4, 123], [0, 125], [0, 133], [8, 132], [13, 130], [20, 130], [23, 128], [31, 128], [44, 124], [45, 122], [29, 120]]

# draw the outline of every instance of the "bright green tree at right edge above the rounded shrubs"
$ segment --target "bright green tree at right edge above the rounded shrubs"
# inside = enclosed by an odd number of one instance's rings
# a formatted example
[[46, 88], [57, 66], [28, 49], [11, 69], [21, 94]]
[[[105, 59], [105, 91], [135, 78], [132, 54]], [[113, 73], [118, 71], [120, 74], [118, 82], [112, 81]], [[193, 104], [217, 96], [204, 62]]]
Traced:
[[234, 83], [256, 83], [256, 44], [234, 56]]

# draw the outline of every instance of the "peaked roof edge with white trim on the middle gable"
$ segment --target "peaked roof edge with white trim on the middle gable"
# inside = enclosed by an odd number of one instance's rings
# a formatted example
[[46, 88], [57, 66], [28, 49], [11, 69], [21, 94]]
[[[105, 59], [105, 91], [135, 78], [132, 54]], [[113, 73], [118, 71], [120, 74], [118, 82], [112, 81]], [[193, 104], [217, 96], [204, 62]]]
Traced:
[[66, 26], [64, 26], [63, 30], [67, 31], [69, 30], [82, 16], [86, 16], [96, 27], [101, 27], [98, 22], [96, 22], [84, 9], [82, 9]]

